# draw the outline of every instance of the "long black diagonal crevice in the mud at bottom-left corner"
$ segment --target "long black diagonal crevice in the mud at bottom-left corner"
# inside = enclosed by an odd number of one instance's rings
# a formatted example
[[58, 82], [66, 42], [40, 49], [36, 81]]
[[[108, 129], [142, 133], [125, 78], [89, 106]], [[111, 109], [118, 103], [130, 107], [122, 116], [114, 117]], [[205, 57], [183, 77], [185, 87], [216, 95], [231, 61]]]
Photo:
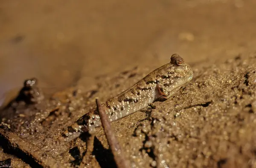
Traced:
[[15, 155], [16, 157], [22, 159], [25, 163], [29, 164], [32, 168], [43, 168], [35, 159], [30, 157], [28, 154], [24, 153], [19, 146], [11, 147], [9, 146], [9, 141], [0, 134], [0, 142], [4, 153]]

